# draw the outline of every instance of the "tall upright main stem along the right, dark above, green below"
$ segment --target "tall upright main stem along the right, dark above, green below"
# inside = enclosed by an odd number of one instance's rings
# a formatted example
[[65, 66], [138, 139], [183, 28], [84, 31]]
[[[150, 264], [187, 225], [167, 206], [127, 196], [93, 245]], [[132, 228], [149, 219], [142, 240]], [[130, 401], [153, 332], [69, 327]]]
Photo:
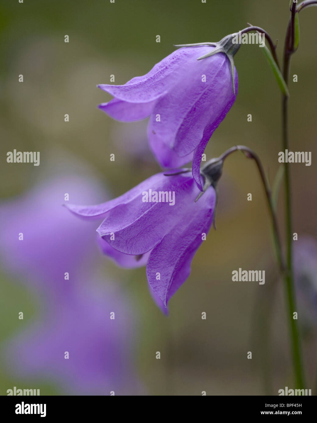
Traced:
[[[286, 85], [289, 84], [289, 70], [291, 56], [294, 53], [295, 39], [295, 13], [296, 3], [292, 4], [291, 18], [287, 27], [285, 47], [284, 47], [284, 63], [283, 76]], [[283, 149], [289, 150], [289, 129], [288, 129], [288, 97], [282, 98], [282, 145]], [[292, 338], [292, 360], [295, 373], [296, 387], [303, 389], [303, 366], [300, 347], [300, 336], [298, 332], [297, 320], [293, 319], [293, 313], [296, 311], [296, 297], [293, 276], [293, 258], [292, 258], [292, 204], [291, 204], [291, 181], [289, 175], [289, 165], [284, 163], [284, 185], [285, 185], [285, 224], [286, 224], [286, 273], [285, 284], [288, 302], [288, 319]]]

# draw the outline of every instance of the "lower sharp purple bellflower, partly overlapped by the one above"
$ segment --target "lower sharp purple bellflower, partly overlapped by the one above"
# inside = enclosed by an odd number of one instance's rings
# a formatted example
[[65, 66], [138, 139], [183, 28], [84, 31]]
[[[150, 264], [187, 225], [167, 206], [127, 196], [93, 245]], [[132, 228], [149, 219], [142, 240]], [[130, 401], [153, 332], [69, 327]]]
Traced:
[[[151, 294], [167, 313], [169, 299], [189, 276], [192, 259], [213, 222], [214, 187], [195, 202], [199, 193], [191, 173], [180, 170], [151, 176], [97, 206], [65, 206], [86, 219], [103, 219], [97, 228], [100, 243], [117, 264], [146, 264]], [[122, 255], [127, 257], [123, 263]]]

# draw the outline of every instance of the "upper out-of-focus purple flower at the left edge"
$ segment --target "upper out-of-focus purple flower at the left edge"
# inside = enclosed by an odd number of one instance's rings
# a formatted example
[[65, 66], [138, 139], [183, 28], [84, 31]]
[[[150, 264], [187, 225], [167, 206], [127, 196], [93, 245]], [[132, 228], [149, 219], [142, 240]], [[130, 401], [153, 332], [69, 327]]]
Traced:
[[[22, 197], [0, 204], [3, 268], [41, 287], [63, 290], [81, 274], [85, 263], [91, 263], [94, 224], [82, 225], [65, 212], [61, 205], [66, 193], [75, 202], [87, 198], [94, 202], [105, 196], [92, 179], [70, 175], [43, 182]], [[67, 284], [65, 272], [70, 274]]]

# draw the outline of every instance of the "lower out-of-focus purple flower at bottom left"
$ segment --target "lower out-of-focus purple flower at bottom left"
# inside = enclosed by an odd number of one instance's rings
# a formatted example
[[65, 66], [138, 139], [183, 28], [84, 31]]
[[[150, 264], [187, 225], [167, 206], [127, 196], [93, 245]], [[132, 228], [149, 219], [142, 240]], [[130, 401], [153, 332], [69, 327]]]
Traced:
[[131, 369], [134, 316], [128, 302], [91, 276], [76, 283], [71, 298], [61, 295], [55, 308], [9, 343], [10, 373], [48, 377], [72, 395], [136, 395], [140, 387]]

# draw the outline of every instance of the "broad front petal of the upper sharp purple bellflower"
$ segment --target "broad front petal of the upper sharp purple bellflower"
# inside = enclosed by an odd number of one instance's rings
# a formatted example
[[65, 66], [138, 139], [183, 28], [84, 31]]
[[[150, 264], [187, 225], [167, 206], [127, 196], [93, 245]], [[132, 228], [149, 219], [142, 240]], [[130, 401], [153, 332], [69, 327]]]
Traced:
[[[181, 77], [182, 83], [156, 102], [150, 116], [148, 139], [161, 166], [183, 166], [201, 142], [206, 146], [236, 99], [232, 90], [231, 64], [224, 54], [217, 53], [198, 63], [204, 66], [196, 63], [189, 66], [186, 76]], [[206, 82], [202, 82], [203, 75]], [[187, 91], [184, 86], [188, 87]], [[237, 93], [236, 69], [235, 87]], [[157, 115], [160, 115], [159, 121]], [[171, 157], [164, 144], [171, 148]], [[177, 156], [180, 156], [178, 160]]]

